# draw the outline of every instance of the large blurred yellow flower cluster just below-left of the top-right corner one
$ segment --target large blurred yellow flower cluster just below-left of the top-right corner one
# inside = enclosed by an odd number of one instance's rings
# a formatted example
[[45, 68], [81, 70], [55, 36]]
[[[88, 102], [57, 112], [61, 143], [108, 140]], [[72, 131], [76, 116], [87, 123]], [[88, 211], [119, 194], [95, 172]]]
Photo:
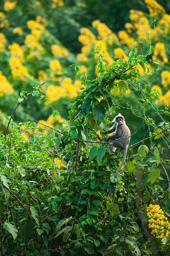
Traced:
[[[133, 29], [136, 31], [138, 38], [139, 39], [146, 38], [146, 34], [149, 28], [149, 20], [147, 17], [144, 16], [144, 13], [138, 10], [130, 10], [129, 18], [132, 21]], [[126, 27], [126, 24], [125, 24], [125, 27]]]

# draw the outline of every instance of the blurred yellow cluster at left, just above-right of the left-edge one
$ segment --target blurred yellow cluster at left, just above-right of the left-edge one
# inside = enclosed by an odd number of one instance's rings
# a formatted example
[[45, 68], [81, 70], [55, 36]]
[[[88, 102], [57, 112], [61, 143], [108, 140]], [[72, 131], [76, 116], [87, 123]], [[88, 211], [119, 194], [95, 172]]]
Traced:
[[10, 59], [9, 64], [10, 64], [13, 79], [19, 79], [19, 80], [25, 81], [26, 77], [30, 79], [34, 78], [33, 76], [29, 75], [27, 68], [22, 65], [19, 58], [12, 57]]

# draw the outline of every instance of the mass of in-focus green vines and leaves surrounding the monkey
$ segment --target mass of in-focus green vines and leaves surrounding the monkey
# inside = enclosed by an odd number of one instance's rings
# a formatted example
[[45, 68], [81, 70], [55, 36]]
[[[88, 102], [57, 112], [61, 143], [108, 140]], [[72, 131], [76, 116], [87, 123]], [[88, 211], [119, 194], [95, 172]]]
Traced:
[[[160, 124], [146, 116], [148, 108], [155, 110], [154, 98], [149, 86], [140, 83], [137, 65], [145, 69], [147, 56], [136, 56], [135, 44], [127, 61], [117, 60], [106, 68], [101, 52], [99, 44], [94, 52], [98, 56], [99, 77], [90, 82], [82, 73], [83, 89], [72, 101], [70, 120], [62, 132], [51, 127], [49, 135], [45, 135], [41, 127], [27, 122], [25, 132], [31, 132], [32, 137], [26, 140], [20, 126], [11, 120], [10, 132], [7, 136], [1, 134], [4, 255], [138, 256], [169, 252], [168, 237], [156, 243], [150, 235], [146, 214], [147, 205], [159, 202], [170, 216], [168, 193], [161, 187], [159, 170], [169, 158], [166, 150], [160, 153], [153, 143], [160, 133], [169, 150], [165, 136], [170, 128], [169, 122], [163, 120], [161, 132], [152, 132], [151, 127], [157, 129]], [[124, 94], [128, 88], [137, 95], [138, 108], [127, 102], [126, 109], [133, 111], [133, 118], [139, 111], [149, 131], [145, 132], [145, 139], [131, 146], [135, 154], [128, 156], [127, 167], [113, 179], [122, 154], [105, 154], [106, 136], [100, 137], [97, 130], [102, 131], [103, 124], [112, 124], [110, 115], [122, 108], [121, 101], [114, 97], [118, 89]], [[53, 116], [56, 115], [54, 110]], [[158, 111], [155, 115], [161, 116]], [[8, 120], [4, 122], [7, 124]], [[133, 119], [131, 123], [130, 129]]]

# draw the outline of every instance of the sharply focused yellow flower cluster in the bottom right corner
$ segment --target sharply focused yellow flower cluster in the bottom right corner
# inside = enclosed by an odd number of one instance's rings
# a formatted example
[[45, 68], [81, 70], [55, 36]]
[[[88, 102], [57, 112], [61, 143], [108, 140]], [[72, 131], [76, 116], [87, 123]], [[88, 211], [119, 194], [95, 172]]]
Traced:
[[156, 235], [157, 238], [163, 238], [170, 235], [169, 221], [164, 215], [159, 205], [150, 204], [147, 207], [147, 215], [149, 217], [148, 227], [152, 229], [151, 234]]

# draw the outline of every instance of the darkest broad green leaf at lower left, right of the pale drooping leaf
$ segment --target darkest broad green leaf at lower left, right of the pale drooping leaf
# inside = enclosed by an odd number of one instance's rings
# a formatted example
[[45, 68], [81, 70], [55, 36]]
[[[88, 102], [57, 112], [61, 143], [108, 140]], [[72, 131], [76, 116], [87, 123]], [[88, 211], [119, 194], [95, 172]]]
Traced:
[[30, 220], [24, 220], [19, 225], [19, 233], [22, 238], [27, 242], [33, 232], [33, 223]]

